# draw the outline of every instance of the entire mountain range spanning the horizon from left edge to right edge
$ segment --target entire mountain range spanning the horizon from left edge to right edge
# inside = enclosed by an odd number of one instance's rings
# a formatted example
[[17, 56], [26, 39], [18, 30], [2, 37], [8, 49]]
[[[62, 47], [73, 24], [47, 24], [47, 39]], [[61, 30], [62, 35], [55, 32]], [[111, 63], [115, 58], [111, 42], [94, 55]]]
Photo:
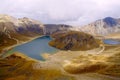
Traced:
[[107, 35], [120, 32], [120, 19], [106, 17], [82, 27], [65, 24], [43, 24], [27, 17], [15, 18], [0, 14], [0, 32], [5, 34], [19, 34], [24, 36], [50, 35], [58, 31], [77, 30], [93, 35]]

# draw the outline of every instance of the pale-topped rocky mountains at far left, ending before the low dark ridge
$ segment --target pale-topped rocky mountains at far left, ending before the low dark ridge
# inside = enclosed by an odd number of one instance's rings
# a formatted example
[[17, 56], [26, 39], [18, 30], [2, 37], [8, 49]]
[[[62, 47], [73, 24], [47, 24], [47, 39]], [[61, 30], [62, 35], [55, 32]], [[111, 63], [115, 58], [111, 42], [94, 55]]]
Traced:
[[0, 32], [5, 34], [43, 34], [43, 24], [29, 18], [16, 19], [9, 15], [0, 15]]

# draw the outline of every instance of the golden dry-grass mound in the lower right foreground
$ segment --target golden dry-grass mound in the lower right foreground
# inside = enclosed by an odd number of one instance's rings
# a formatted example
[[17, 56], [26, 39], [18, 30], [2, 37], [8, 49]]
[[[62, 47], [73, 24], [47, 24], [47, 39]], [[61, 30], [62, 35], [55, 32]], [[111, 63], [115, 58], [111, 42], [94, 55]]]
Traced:
[[107, 47], [99, 55], [88, 54], [73, 59], [64, 69], [72, 74], [95, 72], [120, 77], [120, 47]]

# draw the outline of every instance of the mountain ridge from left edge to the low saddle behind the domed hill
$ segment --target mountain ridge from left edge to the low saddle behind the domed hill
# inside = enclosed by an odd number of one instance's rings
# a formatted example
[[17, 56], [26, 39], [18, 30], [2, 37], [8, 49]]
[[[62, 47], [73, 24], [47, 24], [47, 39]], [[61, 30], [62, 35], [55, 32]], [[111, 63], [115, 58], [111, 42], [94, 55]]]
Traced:
[[0, 15], [0, 32], [24, 34], [34, 36], [35, 34], [52, 34], [56, 31], [68, 30], [69, 25], [64, 24], [42, 24], [40, 21], [27, 17], [14, 18], [9, 15]]

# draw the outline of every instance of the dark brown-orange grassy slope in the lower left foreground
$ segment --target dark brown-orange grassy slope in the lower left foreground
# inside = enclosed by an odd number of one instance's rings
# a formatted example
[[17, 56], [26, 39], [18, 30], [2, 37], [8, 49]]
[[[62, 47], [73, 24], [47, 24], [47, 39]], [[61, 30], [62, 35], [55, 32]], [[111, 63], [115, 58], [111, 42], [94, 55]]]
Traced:
[[34, 61], [12, 55], [0, 59], [0, 80], [74, 80], [58, 69], [33, 69]]

